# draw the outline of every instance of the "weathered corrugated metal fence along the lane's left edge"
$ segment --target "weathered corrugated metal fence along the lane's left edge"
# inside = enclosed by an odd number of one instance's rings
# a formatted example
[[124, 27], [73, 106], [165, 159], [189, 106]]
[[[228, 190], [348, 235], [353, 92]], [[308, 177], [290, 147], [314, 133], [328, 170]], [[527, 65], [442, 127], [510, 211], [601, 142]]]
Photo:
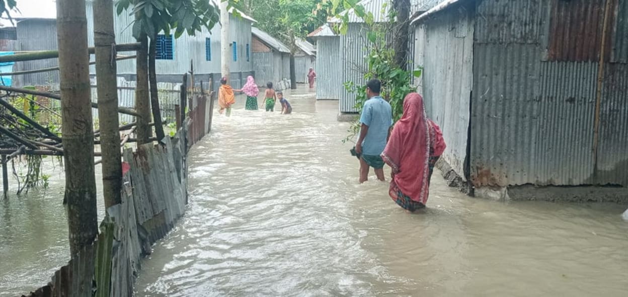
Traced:
[[190, 118], [174, 137], [164, 139], [165, 145], [144, 144], [136, 151], [124, 151], [128, 170], [123, 176], [122, 203], [107, 209], [94, 244], [74, 255], [50, 283], [29, 297], [133, 295], [141, 257], [185, 212], [185, 159], [189, 146], [210, 129], [211, 119], [206, 116], [212, 101], [190, 99]]

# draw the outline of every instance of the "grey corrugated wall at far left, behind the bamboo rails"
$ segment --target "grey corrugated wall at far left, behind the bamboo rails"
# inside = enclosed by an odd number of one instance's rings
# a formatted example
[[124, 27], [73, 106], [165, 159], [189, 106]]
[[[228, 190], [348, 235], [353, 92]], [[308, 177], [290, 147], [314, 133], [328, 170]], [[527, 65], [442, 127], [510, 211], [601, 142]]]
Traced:
[[[56, 50], [57, 22], [47, 19], [28, 19], [19, 21], [17, 25], [19, 50]], [[31, 70], [58, 65], [58, 59], [17, 62], [14, 71]], [[32, 73], [15, 75], [13, 85], [46, 85], [48, 82], [58, 83], [58, 72]]]

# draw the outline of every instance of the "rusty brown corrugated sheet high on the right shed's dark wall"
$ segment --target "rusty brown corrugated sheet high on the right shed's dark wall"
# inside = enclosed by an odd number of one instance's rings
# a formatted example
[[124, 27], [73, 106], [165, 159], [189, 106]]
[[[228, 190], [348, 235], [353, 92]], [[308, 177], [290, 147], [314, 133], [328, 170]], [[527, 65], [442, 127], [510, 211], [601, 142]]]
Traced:
[[[598, 61], [602, 50], [604, 11], [607, 0], [549, 0], [548, 60]], [[610, 60], [613, 24], [618, 0], [611, 1], [607, 20], [605, 60]]]

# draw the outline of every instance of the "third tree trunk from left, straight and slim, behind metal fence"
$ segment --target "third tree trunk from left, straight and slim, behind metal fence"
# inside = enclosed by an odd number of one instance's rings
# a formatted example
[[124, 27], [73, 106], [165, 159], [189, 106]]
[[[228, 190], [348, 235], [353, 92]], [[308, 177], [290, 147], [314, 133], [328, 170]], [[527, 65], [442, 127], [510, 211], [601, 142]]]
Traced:
[[141, 145], [148, 143], [152, 133], [151, 127], [148, 126], [148, 123], [151, 122], [151, 105], [148, 92], [148, 37], [143, 34], [138, 41], [141, 43], [142, 48], [136, 54], [138, 56], [136, 62], [138, 78], [135, 89], [135, 110], [139, 114], [139, 117], [136, 117], [138, 122], [136, 133], [138, 135], [138, 145]]

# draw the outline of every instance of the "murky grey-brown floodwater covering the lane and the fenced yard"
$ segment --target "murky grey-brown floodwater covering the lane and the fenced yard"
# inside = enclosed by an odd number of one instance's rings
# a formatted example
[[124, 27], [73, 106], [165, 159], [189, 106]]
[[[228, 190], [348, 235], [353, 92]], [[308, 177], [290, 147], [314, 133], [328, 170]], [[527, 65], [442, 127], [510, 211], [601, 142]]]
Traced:
[[[357, 183], [337, 101], [288, 99], [291, 115], [239, 98], [215, 117], [189, 158], [187, 213], [143, 261], [138, 296], [627, 294], [626, 205], [469, 198], [436, 173], [428, 208], [408, 214], [387, 183]], [[0, 201], [0, 296], [68, 260], [62, 188], [58, 174]]]

